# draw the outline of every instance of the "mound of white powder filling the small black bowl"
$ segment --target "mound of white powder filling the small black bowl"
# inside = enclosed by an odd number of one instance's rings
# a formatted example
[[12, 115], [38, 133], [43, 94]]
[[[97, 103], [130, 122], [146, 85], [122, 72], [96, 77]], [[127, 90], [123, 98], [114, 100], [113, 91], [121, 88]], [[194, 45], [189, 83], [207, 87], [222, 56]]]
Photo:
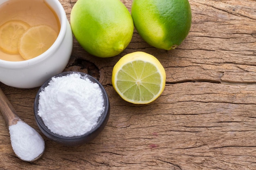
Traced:
[[49, 130], [65, 137], [90, 131], [103, 109], [99, 85], [77, 73], [52, 78], [39, 93], [38, 115]]

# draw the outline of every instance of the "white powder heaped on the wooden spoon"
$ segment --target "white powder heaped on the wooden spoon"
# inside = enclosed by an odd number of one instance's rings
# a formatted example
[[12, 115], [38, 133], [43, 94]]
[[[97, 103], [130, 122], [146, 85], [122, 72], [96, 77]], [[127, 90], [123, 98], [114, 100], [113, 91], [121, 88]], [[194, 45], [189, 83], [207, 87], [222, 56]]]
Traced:
[[11, 146], [15, 154], [24, 161], [34, 160], [41, 155], [45, 149], [43, 138], [23, 121], [9, 126]]

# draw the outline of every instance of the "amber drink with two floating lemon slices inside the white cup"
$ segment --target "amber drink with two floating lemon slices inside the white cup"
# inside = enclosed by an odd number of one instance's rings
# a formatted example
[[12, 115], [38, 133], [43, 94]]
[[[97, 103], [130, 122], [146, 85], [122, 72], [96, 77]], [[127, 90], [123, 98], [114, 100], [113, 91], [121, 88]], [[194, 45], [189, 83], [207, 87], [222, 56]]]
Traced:
[[8, 0], [0, 5], [0, 60], [23, 61], [44, 53], [60, 31], [44, 0]]

